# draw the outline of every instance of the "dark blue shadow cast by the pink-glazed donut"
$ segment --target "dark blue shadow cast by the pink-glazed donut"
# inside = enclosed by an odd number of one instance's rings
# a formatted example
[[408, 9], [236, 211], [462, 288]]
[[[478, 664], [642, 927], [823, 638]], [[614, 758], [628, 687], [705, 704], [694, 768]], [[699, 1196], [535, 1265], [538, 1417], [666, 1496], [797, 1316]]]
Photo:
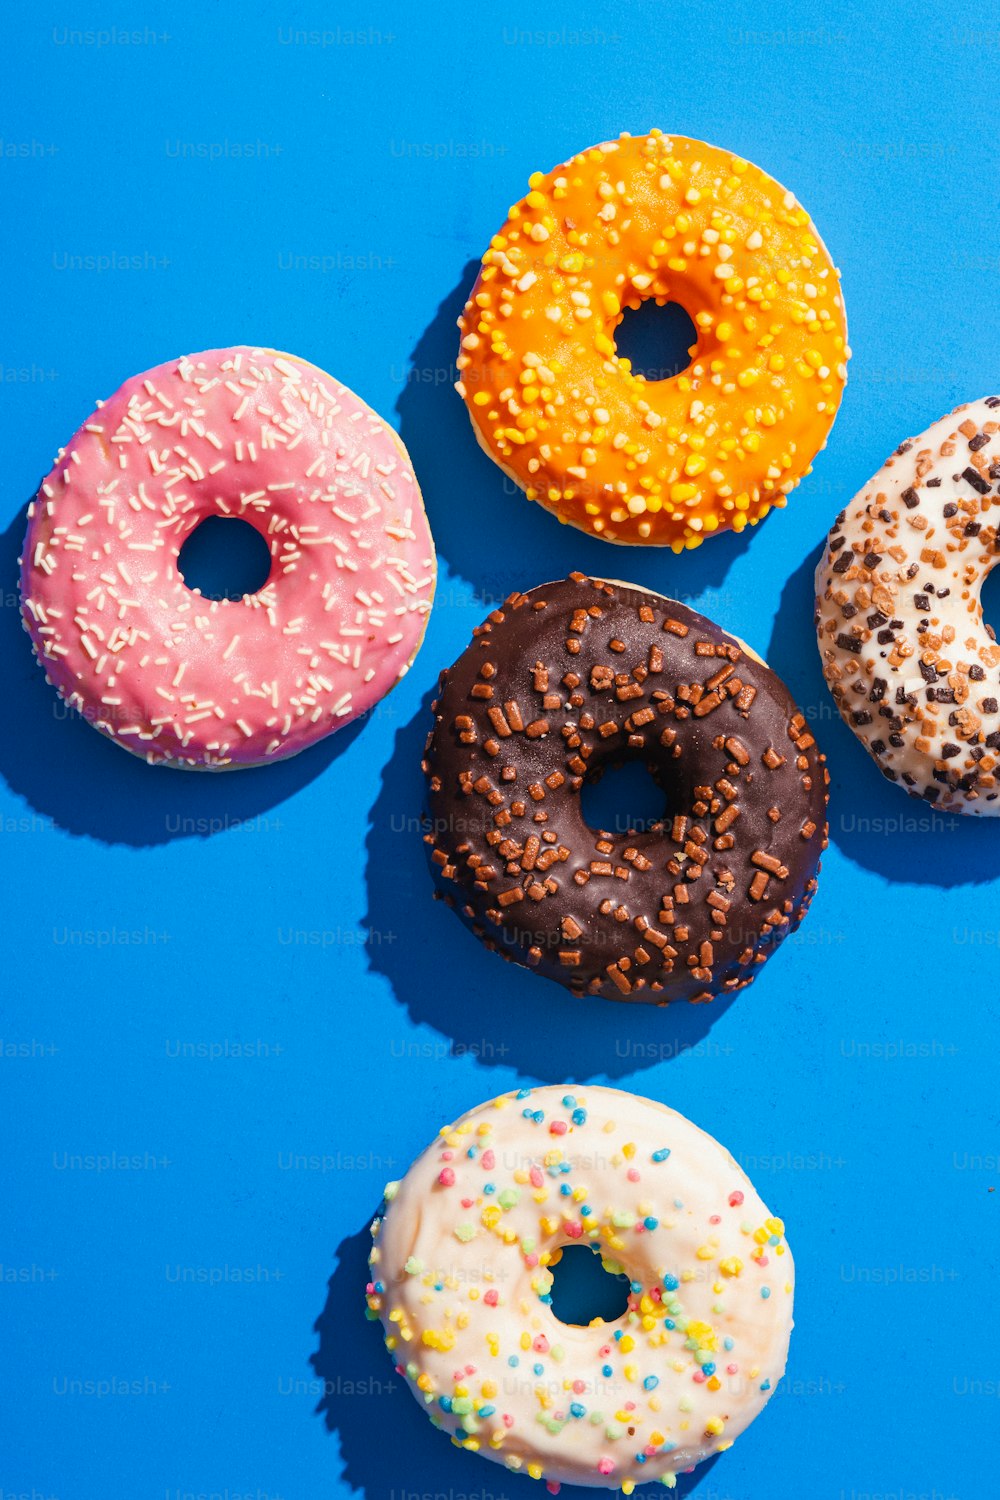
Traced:
[[283, 802], [360, 732], [363, 720], [355, 720], [291, 760], [232, 772], [150, 766], [112, 744], [58, 698], [34, 660], [18, 594], [25, 526], [22, 508], [0, 537], [0, 702], [7, 720], [0, 774], [43, 820], [135, 848], [205, 838]]

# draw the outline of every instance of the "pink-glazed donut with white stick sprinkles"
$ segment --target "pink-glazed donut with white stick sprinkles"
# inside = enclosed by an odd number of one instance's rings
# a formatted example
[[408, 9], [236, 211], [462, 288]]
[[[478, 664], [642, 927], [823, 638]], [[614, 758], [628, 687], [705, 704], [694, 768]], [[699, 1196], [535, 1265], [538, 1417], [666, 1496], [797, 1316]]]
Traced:
[[[235, 516], [271, 555], [237, 600], [183, 542]], [[423, 638], [435, 554], [396, 434], [315, 364], [210, 350], [135, 375], [28, 507], [21, 612], [60, 696], [153, 765], [235, 770], [370, 710]]]

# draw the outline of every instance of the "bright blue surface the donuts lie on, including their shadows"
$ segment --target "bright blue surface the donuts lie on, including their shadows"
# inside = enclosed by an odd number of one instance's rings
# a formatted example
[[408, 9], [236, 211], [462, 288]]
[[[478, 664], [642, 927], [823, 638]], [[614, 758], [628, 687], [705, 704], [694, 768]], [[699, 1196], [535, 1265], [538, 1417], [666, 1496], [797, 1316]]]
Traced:
[[[544, 1494], [450, 1448], [361, 1317], [384, 1180], [445, 1119], [532, 1080], [670, 1102], [789, 1222], [789, 1377], [687, 1482], [699, 1500], [996, 1494], [997, 826], [882, 782], [834, 720], [810, 622], [840, 506], [903, 436], [1000, 387], [996, 16], [961, 0], [609, 0], [544, 22], [454, 0], [19, 10], [0, 156], [3, 1496]], [[469, 262], [528, 174], [651, 124], [795, 189], [843, 267], [855, 348], [789, 510], [682, 558], [613, 552], [526, 506], [448, 388]], [[235, 342], [313, 360], [397, 424], [441, 584], [369, 723], [283, 766], [181, 776], [57, 710], [13, 558], [94, 398]], [[430, 902], [436, 672], [496, 597], [573, 567], [747, 636], [829, 754], [816, 904], [727, 1010], [574, 1004]]]

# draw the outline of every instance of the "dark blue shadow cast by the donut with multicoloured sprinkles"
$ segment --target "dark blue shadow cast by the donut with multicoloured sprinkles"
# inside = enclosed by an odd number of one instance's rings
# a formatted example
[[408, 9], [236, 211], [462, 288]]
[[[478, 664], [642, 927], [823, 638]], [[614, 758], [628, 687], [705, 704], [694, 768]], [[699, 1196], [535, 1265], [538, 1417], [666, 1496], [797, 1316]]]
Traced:
[[[310, 1354], [321, 1416], [340, 1443], [342, 1479], [366, 1496], [477, 1497], [477, 1500], [528, 1500], [546, 1496], [546, 1488], [526, 1474], [465, 1454], [436, 1431], [406, 1382], [396, 1374], [382, 1344], [382, 1329], [366, 1317], [364, 1288], [372, 1236], [367, 1226], [348, 1234], [337, 1248], [336, 1268], [327, 1282], [322, 1312], [313, 1323], [319, 1342]], [[678, 1474], [673, 1490], [646, 1485], [636, 1490], [642, 1500], [682, 1500], [699, 1485], [717, 1458], [688, 1474]], [[600, 1496], [604, 1491], [564, 1486], [564, 1494]]]

